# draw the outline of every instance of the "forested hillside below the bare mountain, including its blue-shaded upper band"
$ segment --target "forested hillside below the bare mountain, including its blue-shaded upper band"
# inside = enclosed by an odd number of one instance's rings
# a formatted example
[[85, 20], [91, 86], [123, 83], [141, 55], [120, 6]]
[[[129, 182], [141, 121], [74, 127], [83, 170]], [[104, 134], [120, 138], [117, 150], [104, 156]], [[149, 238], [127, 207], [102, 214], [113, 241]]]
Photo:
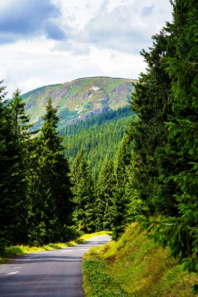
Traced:
[[77, 152], [84, 147], [92, 174], [98, 176], [104, 159], [115, 159], [119, 142], [129, 123], [135, 120], [136, 115], [127, 106], [58, 129], [64, 136], [65, 158], [72, 163]]

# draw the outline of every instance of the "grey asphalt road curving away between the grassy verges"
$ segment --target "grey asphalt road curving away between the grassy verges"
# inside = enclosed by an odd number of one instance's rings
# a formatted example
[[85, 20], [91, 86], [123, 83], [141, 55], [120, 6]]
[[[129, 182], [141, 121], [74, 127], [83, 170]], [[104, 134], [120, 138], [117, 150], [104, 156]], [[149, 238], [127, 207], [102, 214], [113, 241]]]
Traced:
[[82, 245], [29, 253], [0, 265], [0, 297], [83, 297], [82, 256], [108, 235]]

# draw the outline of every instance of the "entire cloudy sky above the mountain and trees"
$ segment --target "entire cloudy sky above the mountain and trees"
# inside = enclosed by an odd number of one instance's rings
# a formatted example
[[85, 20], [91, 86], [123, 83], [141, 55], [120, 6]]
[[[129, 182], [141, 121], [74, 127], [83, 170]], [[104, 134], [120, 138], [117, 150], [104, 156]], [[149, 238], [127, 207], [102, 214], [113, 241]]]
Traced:
[[138, 79], [142, 49], [171, 21], [169, 0], [0, 0], [8, 97], [91, 76]]

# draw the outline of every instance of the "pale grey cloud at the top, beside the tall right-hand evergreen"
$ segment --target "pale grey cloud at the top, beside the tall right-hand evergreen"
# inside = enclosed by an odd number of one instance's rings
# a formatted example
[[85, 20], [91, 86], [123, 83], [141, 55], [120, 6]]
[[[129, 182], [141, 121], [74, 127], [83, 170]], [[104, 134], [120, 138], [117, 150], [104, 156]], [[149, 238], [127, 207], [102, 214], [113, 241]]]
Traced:
[[[146, 3], [150, 5], [146, 6]], [[165, 21], [170, 19], [171, 6], [167, 8], [165, 1], [134, 1], [130, 5], [115, 6], [110, 11], [101, 9], [108, 5], [109, 0], [104, 0], [99, 13], [76, 36], [79, 42], [138, 54], [152, 45], [151, 36], [158, 33]]]

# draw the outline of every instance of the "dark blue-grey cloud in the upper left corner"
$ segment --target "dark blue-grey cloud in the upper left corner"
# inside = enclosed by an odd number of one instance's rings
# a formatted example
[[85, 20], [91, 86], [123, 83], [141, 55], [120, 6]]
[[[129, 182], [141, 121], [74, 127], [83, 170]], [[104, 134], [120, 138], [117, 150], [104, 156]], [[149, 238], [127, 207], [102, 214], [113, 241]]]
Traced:
[[8, 0], [0, 8], [0, 44], [42, 34], [54, 40], [65, 38], [57, 22], [61, 11], [51, 0]]

